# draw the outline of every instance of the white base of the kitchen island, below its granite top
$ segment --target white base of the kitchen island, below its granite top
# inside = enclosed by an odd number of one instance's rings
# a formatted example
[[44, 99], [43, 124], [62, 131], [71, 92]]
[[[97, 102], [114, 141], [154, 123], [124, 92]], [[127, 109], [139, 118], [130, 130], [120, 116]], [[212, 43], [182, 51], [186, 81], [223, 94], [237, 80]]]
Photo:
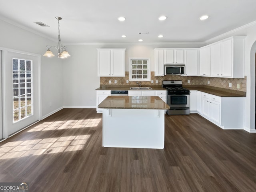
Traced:
[[164, 148], [164, 110], [103, 109], [102, 145]]

